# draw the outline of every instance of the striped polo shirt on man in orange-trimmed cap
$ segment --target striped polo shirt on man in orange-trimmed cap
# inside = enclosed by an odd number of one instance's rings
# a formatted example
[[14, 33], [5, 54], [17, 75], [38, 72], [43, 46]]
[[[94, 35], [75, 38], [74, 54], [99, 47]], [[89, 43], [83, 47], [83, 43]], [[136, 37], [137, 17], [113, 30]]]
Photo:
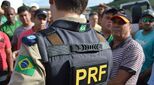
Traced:
[[131, 37], [118, 45], [113, 51], [113, 67], [110, 79], [115, 78], [118, 70], [122, 69], [133, 76], [125, 85], [136, 85], [141, 67], [144, 61], [144, 53], [142, 47]]

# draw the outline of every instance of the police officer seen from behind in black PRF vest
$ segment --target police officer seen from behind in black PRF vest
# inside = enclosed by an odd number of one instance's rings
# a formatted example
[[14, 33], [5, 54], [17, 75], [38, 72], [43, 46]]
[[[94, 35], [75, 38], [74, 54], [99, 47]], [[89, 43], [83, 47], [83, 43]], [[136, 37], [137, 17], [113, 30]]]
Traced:
[[9, 85], [106, 85], [111, 50], [80, 14], [88, 0], [49, 0], [53, 24], [22, 39]]

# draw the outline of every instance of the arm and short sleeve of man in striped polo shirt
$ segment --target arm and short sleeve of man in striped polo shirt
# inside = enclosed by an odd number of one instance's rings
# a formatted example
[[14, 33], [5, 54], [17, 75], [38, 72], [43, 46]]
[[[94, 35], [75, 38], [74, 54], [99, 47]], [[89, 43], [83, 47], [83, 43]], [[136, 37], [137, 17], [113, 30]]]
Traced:
[[[126, 52], [116, 76], [109, 81], [108, 85], [125, 85], [133, 75], [140, 72], [144, 60], [142, 48], [132, 47]], [[130, 83], [135, 84], [136, 82], [128, 82]]]

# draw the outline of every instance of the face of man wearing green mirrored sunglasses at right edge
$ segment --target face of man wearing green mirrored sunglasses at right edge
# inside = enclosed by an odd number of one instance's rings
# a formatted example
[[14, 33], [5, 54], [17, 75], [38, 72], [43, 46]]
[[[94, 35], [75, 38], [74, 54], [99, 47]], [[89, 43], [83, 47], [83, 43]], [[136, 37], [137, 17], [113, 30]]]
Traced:
[[154, 17], [152, 16], [145, 16], [142, 18], [142, 26], [145, 31], [149, 31], [154, 26]]

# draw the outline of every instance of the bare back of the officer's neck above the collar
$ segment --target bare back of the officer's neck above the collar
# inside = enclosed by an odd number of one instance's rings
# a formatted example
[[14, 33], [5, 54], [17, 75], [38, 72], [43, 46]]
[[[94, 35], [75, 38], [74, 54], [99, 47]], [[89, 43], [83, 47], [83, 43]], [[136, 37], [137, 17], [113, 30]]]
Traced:
[[75, 18], [80, 18], [80, 15], [77, 13], [71, 13], [71, 12], [65, 12], [65, 11], [57, 11], [56, 16], [54, 17], [53, 21], [62, 18], [62, 17], [75, 17]]

